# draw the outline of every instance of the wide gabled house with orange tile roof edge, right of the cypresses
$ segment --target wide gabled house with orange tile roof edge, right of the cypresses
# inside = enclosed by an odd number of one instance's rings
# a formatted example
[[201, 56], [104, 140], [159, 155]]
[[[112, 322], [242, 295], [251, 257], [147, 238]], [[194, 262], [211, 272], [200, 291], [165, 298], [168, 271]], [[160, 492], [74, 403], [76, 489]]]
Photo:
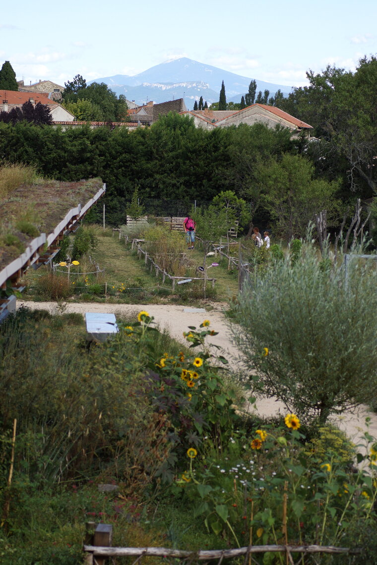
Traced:
[[310, 130], [313, 129], [305, 121], [294, 118], [294, 116], [283, 112], [283, 110], [276, 108], [276, 106], [268, 106], [266, 104], [253, 104], [244, 108], [244, 110], [232, 112], [232, 114], [219, 119], [215, 123], [218, 127], [225, 128], [229, 127], [229, 125], [253, 125], [255, 123], [265, 124], [268, 128], [275, 128], [276, 125], [281, 125], [284, 128], [291, 129], [293, 137], [297, 137], [300, 132], [305, 132], [307, 136], [310, 136]]

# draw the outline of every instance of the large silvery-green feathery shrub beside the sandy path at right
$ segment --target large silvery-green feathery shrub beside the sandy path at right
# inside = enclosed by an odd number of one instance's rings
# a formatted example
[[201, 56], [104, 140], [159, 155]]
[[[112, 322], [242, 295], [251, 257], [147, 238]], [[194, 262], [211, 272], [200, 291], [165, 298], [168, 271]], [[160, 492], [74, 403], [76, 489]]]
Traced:
[[232, 308], [239, 324], [233, 336], [254, 371], [254, 390], [322, 424], [331, 412], [374, 396], [376, 279], [356, 260], [347, 281], [341, 266], [324, 269], [310, 242], [299, 259], [288, 253], [255, 277]]

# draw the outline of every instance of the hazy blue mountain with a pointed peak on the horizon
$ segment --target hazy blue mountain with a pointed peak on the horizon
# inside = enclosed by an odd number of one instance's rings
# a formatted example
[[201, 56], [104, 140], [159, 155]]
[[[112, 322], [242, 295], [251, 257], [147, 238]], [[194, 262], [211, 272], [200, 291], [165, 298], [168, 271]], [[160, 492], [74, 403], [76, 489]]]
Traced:
[[[114, 75], [96, 79], [96, 82], [105, 82], [116, 94], [124, 94], [128, 100], [134, 100], [138, 104], [145, 104], [148, 100], [157, 103], [184, 98], [186, 106], [191, 110], [194, 101], [201, 96], [208, 104], [218, 102], [222, 81], [227, 101], [240, 102], [242, 94], [248, 92], [251, 80], [253, 79], [250, 77], [181, 57], [150, 67], [137, 75]], [[265, 89], [270, 90], [270, 96], [278, 89], [286, 95], [291, 92], [289, 86], [255, 80], [257, 93], [259, 90], [264, 92]]]

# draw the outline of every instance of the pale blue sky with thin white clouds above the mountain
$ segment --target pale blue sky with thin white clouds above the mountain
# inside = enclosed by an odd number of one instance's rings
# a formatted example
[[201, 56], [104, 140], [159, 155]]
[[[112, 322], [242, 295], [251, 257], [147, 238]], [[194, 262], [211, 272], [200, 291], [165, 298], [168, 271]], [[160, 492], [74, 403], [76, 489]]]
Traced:
[[0, 64], [25, 85], [135, 75], [186, 56], [250, 79], [307, 84], [377, 54], [375, 0], [18, 0], [0, 15]]

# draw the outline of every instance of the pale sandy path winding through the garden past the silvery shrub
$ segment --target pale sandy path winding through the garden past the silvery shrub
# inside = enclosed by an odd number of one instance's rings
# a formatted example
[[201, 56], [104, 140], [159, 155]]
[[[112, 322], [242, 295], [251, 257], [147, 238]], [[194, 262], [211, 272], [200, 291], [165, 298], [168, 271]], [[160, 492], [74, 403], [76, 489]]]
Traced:
[[[23, 302], [18, 301], [18, 307], [24, 304], [33, 310], [48, 310], [51, 313], [57, 312], [55, 302]], [[217, 336], [211, 337], [211, 343], [218, 345], [222, 349], [222, 354], [229, 360], [239, 363], [239, 351], [232, 344], [231, 333], [227, 327], [222, 306], [218, 309], [208, 312], [196, 312], [196, 308], [178, 305], [130, 305], [130, 304], [103, 304], [98, 302], [84, 303], [67, 303], [66, 312], [106, 312], [112, 314], [132, 314], [135, 316], [137, 312], [146, 310], [155, 321], [159, 323], [161, 328], [167, 327], [171, 336], [176, 340], [185, 342], [183, 332], [188, 330], [189, 325], [197, 328], [203, 320], [210, 320], [211, 329], [219, 332]], [[193, 311], [185, 311], [193, 310]], [[216, 351], [216, 350], [215, 350]], [[278, 412], [285, 414], [287, 412], [283, 403], [272, 398], [259, 398], [257, 400], [257, 413], [261, 416], [272, 416]], [[377, 438], [377, 415], [367, 410], [366, 406], [360, 406], [353, 413], [346, 412], [342, 416], [334, 416], [332, 421], [343, 429], [350, 439], [356, 444], [361, 441], [363, 432], [366, 430], [365, 419], [370, 418], [369, 433]]]

